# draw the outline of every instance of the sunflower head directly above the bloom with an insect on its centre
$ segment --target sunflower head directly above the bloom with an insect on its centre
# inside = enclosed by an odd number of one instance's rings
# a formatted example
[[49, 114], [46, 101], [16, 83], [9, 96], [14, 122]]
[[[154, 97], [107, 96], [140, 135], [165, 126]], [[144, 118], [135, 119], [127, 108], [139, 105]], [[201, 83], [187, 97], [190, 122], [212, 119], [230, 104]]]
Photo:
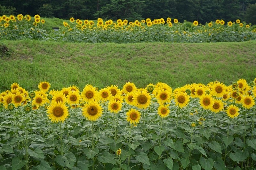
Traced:
[[99, 92], [90, 84], [85, 85], [83, 92], [81, 93], [81, 98], [83, 101], [94, 101], [100, 100]]

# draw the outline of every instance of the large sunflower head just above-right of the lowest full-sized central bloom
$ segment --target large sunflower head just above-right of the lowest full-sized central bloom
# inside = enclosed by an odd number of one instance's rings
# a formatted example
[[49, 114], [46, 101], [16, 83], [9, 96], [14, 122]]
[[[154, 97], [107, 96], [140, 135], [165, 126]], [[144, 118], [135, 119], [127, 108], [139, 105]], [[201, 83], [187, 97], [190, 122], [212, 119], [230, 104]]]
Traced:
[[147, 108], [151, 103], [151, 96], [146, 90], [137, 91], [133, 94], [133, 105], [138, 108]]

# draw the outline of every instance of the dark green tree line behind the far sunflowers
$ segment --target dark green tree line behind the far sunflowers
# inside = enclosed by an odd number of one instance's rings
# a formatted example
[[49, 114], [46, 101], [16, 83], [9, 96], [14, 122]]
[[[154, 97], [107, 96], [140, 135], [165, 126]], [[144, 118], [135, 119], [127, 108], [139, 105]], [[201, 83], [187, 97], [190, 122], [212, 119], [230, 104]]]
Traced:
[[136, 19], [177, 18], [205, 24], [240, 19], [256, 24], [256, 0], [5, 0], [0, 15], [39, 14], [46, 18]]

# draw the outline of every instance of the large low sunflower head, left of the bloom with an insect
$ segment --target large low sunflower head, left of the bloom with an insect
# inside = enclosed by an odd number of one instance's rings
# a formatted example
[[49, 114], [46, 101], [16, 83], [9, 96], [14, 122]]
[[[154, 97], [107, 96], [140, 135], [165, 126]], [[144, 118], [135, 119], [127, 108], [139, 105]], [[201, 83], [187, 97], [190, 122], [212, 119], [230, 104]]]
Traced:
[[68, 107], [61, 102], [52, 102], [47, 108], [47, 116], [52, 122], [64, 122], [68, 118]]

